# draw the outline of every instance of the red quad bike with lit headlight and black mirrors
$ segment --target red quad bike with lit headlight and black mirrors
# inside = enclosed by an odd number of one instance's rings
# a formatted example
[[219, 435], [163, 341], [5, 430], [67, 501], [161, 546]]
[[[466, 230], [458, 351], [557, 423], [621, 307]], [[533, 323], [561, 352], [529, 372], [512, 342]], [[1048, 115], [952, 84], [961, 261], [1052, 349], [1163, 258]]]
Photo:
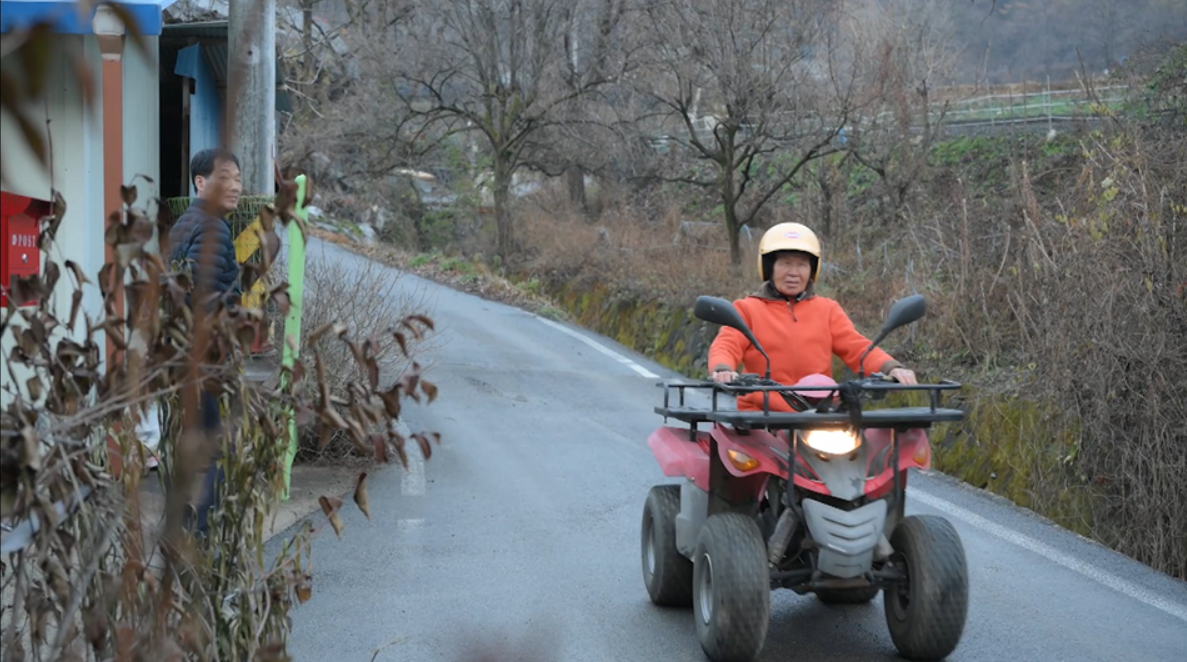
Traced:
[[[865, 355], [925, 312], [919, 295], [895, 303]], [[729, 301], [700, 297], [694, 313], [737, 329], [767, 356]], [[899, 653], [946, 657], [960, 642], [969, 607], [964, 547], [947, 520], [904, 516], [903, 505], [907, 470], [931, 466], [925, 428], [964, 418], [941, 407], [942, 392], [960, 384], [904, 386], [862, 368], [845, 383], [812, 375], [783, 386], [770, 380], [767, 361], [761, 378], [660, 384], [664, 406], [655, 412], [665, 426], [648, 445], [664, 475], [684, 480], [652, 488], [643, 509], [642, 568], [652, 601], [692, 604], [706, 656], [744, 662], [762, 650], [773, 590], [815, 593], [825, 603], [868, 603], [881, 591]], [[711, 390], [711, 407], [686, 406], [688, 389]], [[864, 407], [904, 390], [927, 392], [929, 405]], [[719, 393], [754, 392], [763, 394], [761, 412], [718, 408]], [[772, 412], [773, 395], [794, 412]], [[668, 426], [668, 419], [687, 427]]]

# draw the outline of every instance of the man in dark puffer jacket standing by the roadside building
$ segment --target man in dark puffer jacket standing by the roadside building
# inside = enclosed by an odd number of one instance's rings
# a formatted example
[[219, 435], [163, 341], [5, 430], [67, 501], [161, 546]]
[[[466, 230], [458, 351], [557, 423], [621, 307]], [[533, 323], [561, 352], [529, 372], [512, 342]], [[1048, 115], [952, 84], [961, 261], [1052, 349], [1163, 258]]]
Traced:
[[[201, 299], [188, 297], [190, 305], [203, 305], [208, 312], [214, 312], [218, 303], [233, 303], [240, 294], [235, 238], [226, 219], [239, 206], [243, 192], [239, 159], [223, 148], [203, 149], [190, 160], [190, 177], [197, 197], [169, 233], [169, 259], [191, 275], [193, 295]], [[210, 437], [222, 432], [218, 399], [205, 389], [201, 390], [201, 412], [203, 431]], [[217, 458], [215, 452], [197, 505], [195, 533], [201, 536], [207, 535], [208, 515], [217, 507], [218, 490], [226, 482]]]

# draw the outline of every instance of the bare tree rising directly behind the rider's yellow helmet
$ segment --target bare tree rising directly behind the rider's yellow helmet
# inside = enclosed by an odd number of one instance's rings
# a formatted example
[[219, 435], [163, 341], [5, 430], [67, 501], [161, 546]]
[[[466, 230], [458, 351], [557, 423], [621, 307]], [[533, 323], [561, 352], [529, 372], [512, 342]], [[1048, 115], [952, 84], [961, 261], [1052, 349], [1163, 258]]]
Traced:
[[659, 177], [713, 191], [741, 265], [738, 230], [811, 160], [837, 149], [851, 81], [832, 59], [832, 4], [661, 0], [646, 15], [647, 76], [661, 140], [687, 167]]

